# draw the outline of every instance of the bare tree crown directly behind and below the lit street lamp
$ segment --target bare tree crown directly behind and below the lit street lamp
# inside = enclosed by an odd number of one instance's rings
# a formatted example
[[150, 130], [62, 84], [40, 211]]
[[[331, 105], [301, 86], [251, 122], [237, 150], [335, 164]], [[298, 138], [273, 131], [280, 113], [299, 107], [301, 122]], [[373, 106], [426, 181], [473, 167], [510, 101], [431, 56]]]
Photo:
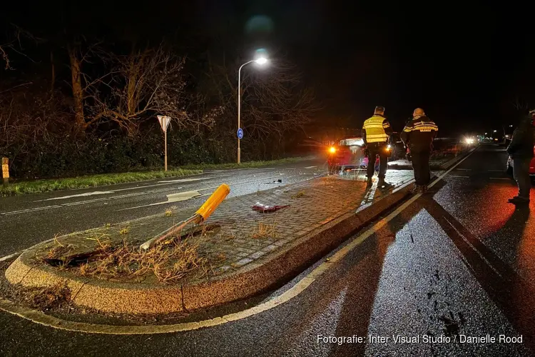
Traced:
[[[253, 64], [254, 65], [254, 64]], [[210, 64], [207, 73], [213, 89], [225, 108], [227, 126], [235, 126], [238, 64]], [[315, 94], [302, 85], [302, 76], [287, 61], [272, 61], [269, 68], [242, 72], [242, 121], [248, 135], [257, 138], [277, 136], [302, 129], [320, 109]]]

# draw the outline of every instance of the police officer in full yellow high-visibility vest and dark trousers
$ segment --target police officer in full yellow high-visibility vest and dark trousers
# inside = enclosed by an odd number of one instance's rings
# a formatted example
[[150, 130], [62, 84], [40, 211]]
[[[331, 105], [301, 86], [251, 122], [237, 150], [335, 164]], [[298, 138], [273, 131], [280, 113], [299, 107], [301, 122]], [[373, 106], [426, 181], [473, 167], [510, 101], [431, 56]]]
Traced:
[[392, 136], [392, 128], [384, 117], [384, 107], [376, 106], [373, 116], [367, 119], [362, 126], [362, 140], [368, 150], [367, 187], [372, 186], [376, 156], [379, 156], [379, 181], [377, 182], [377, 187], [389, 188], [392, 186], [384, 181], [384, 176], [387, 174], [388, 140], [390, 136]]

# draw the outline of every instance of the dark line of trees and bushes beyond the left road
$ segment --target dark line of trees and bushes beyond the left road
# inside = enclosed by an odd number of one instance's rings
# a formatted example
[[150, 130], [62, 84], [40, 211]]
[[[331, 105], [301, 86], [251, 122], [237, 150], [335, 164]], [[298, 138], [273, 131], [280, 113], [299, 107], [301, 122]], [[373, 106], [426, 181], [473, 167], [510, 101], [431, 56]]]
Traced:
[[[16, 178], [235, 160], [240, 49], [10, 25], [0, 42], [0, 156]], [[243, 160], [287, 154], [319, 109], [281, 54], [242, 71]]]

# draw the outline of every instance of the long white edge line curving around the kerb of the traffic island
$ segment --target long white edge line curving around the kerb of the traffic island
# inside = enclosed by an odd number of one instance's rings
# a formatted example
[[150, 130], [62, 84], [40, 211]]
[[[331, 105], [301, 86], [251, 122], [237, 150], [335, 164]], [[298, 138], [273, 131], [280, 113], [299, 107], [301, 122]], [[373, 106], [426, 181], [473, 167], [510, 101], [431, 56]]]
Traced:
[[[444, 176], [449, 174], [457, 165], [461, 164], [464, 160], [468, 159], [472, 153], [468, 154], [464, 159], [459, 161], [456, 165], [454, 165], [451, 169], [448, 171], [445, 171], [444, 174], [437, 177], [436, 180], [434, 180], [431, 184], [429, 184], [429, 187], [434, 186], [437, 182], [442, 180]], [[188, 322], [188, 323], [176, 323], [173, 325], [156, 325], [156, 326], [109, 326], [109, 325], [97, 325], [94, 323], [83, 323], [83, 322], [73, 322], [73, 321], [65, 321], [61, 320], [61, 318], [56, 318], [54, 316], [49, 316], [41, 311], [35, 311], [30, 310], [28, 308], [20, 308], [17, 306], [14, 306], [14, 303], [11, 303], [11, 301], [6, 300], [0, 300], [0, 308], [6, 312], [12, 313], [16, 316], [20, 316], [22, 318], [26, 318], [28, 320], [34, 321], [35, 323], [40, 323], [44, 326], [51, 326], [54, 328], [59, 328], [62, 330], [67, 331], [79, 331], [79, 332], [88, 332], [88, 333], [103, 333], [103, 334], [112, 334], [112, 335], [138, 335], [138, 334], [149, 334], [149, 333], [170, 333], [170, 332], [179, 332], [179, 331], [191, 331], [191, 330], [197, 330], [198, 328], [205, 328], [205, 327], [212, 327], [212, 326], [218, 326], [223, 325], [224, 323], [228, 323], [230, 321], [237, 321], [241, 320], [243, 318], [248, 318], [250, 316], [254, 316], [258, 313], [262, 313], [264, 311], [270, 310], [272, 308], [275, 308], [279, 305], [282, 305], [282, 303], [287, 303], [287, 301], [290, 301], [292, 298], [295, 298], [295, 296], [298, 296], [302, 291], [305, 291], [306, 288], [308, 288], [314, 281], [317, 280], [317, 278], [320, 278], [325, 271], [327, 271], [333, 264], [337, 263], [338, 261], [342, 260], [345, 256], [347, 256], [350, 251], [357, 248], [357, 246], [360, 246], [364, 241], [366, 241], [367, 238], [370, 238], [370, 236], [373, 236], [374, 233], [377, 233], [380, 229], [384, 228], [384, 226], [387, 225], [389, 221], [392, 221], [392, 219], [396, 218], [399, 213], [402, 213], [407, 207], [409, 207], [414, 201], [416, 201], [420, 196], [422, 196], [421, 193], [418, 193], [414, 195], [412, 198], [409, 199], [409, 201], [402, 204], [402, 206], [399, 206], [395, 211], [390, 213], [388, 216], [384, 217], [381, 221], [377, 222], [372, 226], [371, 228], [367, 229], [364, 233], [360, 234], [357, 238], [353, 239], [350, 243], [348, 243], [346, 246], [343, 246], [338, 250], [336, 253], [334, 253], [328, 261], [324, 261], [320, 264], [320, 266], [317, 266], [314, 270], [312, 270], [310, 273], [308, 273], [306, 276], [304, 276], [300, 281], [297, 281], [297, 283], [289, 288], [284, 293], [280, 294], [279, 296], [275, 296], [274, 298], [271, 298], [268, 301], [265, 301], [264, 303], [260, 303], [258, 306], [255, 306], [253, 308], [248, 308], [247, 310], [239, 311], [237, 313], [230, 313], [225, 316], [212, 318], [210, 320], [204, 320], [204, 321], [198, 321], [198, 322]]]

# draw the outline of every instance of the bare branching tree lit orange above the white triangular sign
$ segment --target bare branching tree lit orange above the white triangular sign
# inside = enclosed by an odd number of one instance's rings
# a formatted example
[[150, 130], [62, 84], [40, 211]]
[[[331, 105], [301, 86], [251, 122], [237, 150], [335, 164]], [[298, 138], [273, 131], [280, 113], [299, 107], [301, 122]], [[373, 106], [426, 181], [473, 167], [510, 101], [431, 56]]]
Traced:
[[[159, 46], [126, 56], [108, 54], [111, 71], [98, 79], [84, 75], [86, 101], [93, 124], [101, 119], [116, 123], [128, 134], [156, 115], [170, 116], [179, 126], [206, 125], [210, 116], [188, 113], [183, 67], [185, 59]], [[188, 105], [186, 105], [188, 103]]]

